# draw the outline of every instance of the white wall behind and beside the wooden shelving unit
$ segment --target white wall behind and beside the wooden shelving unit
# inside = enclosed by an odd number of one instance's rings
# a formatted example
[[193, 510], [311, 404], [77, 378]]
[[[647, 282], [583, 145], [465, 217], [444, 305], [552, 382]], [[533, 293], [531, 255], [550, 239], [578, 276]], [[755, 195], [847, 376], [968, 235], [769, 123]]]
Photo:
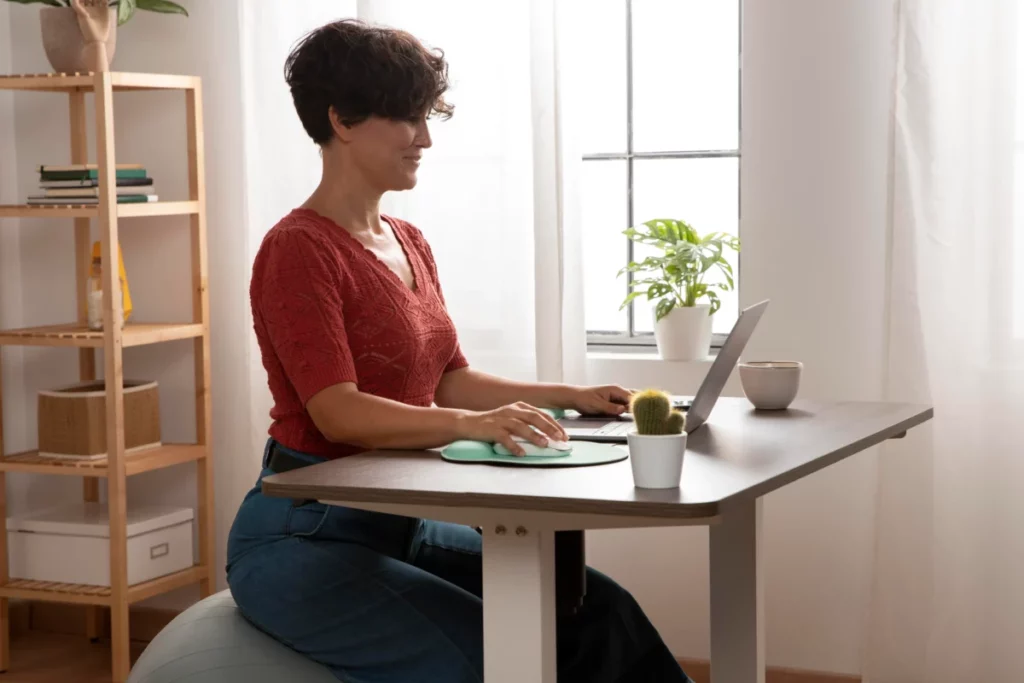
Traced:
[[[207, 148], [207, 218], [210, 263], [210, 319], [212, 345], [213, 455], [216, 460], [217, 548], [216, 570], [224, 565], [224, 540], [234, 510], [258, 473], [260, 453], [252, 449], [249, 395], [248, 317], [249, 248], [244, 226], [245, 202], [242, 153], [241, 72], [237, 2], [185, 2], [190, 17], [138, 12], [119, 28], [117, 71], [196, 74], [204, 79]], [[6, 12], [7, 4], [3, 9]], [[39, 41], [38, 9], [15, 6], [11, 15], [11, 52], [14, 73], [50, 71]], [[3, 15], [0, 15], [3, 16]], [[6, 42], [0, 43], [6, 45]], [[0, 50], [0, 59], [3, 51]], [[2, 63], [2, 62], [0, 62]], [[0, 115], [3, 113], [0, 100]], [[92, 97], [87, 98], [90, 110]], [[119, 162], [138, 162], [155, 178], [162, 199], [187, 194], [185, 111], [181, 92], [132, 92], [115, 95], [116, 155]], [[0, 121], [4, 119], [0, 116]], [[69, 161], [67, 97], [19, 93], [14, 100], [17, 131], [17, 194], [35, 187], [33, 167]], [[0, 136], [3, 135], [0, 124]], [[0, 140], [3, 138], [0, 137]], [[94, 150], [90, 127], [90, 154]], [[94, 157], [91, 157], [94, 160]], [[6, 161], [6, 160], [5, 160]], [[0, 176], [2, 177], [2, 176]], [[19, 236], [22, 310], [4, 301], [5, 316], [20, 316], [20, 325], [45, 325], [74, 319], [73, 230], [70, 221], [23, 220]], [[95, 226], [93, 226], [95, 236]], [[189, 230], [183, 217], [123, 221], [120, 242], [124, 252], [136, 322], [189, 319], [191, 315]], [[16, 243], [15, 243], [16, 244]], [[4, 243], [4, 253], [7, 244]], [[31, 264], [32, 267], [26, 267]], [[3, 270], [6, 279], [6, 268]], [[4, 281], [4, 284], [7, 280]], [[4, 291], [7, 288], [4, 287]], [[14, 311], [14, 312], [12, 312]], [[7, 321], [4, 321], [7, 323]], [[12, 322], [12, 324], [14, 324]], [[191, 343], [159, 344], [125, 350], [125, 375], [156, 379], [161, 384], [163, 438], [195, 438]], [[18, 393], [31, 397], [43, 387], [77, 378], [74, 352], [32, 349], [26, 353], [25, 386]], [[5, 407], [12, 386], [5, 387]], [[27, 433], [35, 434], [35, 413], [26, 416]], [[34, 445], [34, 437], [32, 443]], [[129, 500], [195, 505], [195, 468], [191, 465], [152, 472], [129, 480]], [[79, 495], [71, 477], [32, 477], [29, 483], [8, 486], [12, 511], [44, 501]], [[161, 596], [159, 604], [185, 605], [197, 595], [184, 589]]]

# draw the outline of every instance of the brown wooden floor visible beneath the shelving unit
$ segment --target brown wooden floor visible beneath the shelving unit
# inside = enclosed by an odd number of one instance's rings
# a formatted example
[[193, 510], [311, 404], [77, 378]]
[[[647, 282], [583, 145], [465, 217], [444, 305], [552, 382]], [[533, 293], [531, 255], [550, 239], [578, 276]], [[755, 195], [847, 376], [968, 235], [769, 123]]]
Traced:
[[[132, 661], [144, 643], [132, 643]], [[28, 631], [11, 638], [11, 666], [0, 683], [111, 683], [109, 642]]]

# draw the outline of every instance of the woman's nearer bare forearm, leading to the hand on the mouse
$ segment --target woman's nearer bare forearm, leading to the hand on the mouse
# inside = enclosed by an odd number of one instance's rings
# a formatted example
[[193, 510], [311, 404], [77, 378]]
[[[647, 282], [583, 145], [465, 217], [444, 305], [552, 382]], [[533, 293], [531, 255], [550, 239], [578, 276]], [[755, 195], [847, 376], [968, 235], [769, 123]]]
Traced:
[[466, 411], [419, 408], [360, 393], [350, 385], [329, 387], [306, 410], [325, 438], [365, 449], [434, 449], [461, 438]]

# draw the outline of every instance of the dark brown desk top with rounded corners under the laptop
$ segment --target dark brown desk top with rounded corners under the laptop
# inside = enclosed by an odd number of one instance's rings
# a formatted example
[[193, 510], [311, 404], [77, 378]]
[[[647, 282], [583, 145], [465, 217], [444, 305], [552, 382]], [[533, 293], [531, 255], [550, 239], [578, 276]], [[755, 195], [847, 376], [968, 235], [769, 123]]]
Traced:
[[636, 488], [629, 461], [528, 468], [450, 463], [436, 451], [375, 451], [266, 477], [269, 496], [543, 512], [696, 518], [757, 498], [929, 419], [927, 405], [797, 401], [759, 412], [722, 397], [689, 435], [679, 488]]

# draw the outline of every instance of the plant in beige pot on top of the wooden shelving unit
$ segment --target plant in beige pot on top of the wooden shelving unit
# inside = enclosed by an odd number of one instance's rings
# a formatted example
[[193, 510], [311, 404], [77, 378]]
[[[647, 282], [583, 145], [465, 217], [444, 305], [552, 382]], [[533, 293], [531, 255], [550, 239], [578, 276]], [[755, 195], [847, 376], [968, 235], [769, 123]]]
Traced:
[[117, 46], [117, 28], [138, 9], [188, 16], [170, 0], [7, 0], [41, 4], [43, 49], [61, 74], [109, 71]]

